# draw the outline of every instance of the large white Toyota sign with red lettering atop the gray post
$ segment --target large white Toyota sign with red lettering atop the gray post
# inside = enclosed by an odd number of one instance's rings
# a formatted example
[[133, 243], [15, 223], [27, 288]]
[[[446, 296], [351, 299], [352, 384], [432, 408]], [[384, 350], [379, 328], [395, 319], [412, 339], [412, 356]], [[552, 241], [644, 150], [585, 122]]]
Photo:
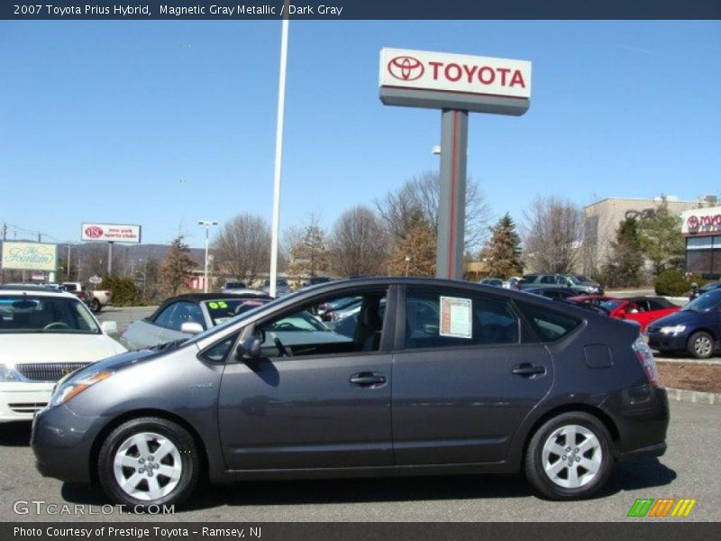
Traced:
[[523, 115], [530, 105], [531, 62], [425, 50], [380, 51], [386, 105]]

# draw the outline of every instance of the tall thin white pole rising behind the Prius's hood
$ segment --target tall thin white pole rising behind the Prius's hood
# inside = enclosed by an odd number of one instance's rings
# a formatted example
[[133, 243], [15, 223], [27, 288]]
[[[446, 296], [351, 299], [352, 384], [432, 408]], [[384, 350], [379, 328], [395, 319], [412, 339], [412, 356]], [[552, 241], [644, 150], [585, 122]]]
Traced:
[[[287, 6], [286, 6], [287, 8]], [[273, 223], [270, 230], [270, 297], [276, 296], [278, 280], [278, 234], [280, 230], [280, 166], [283, 160], [283, 120], [286, 112], [287, 9], [280, 34], [280, 76], [278, 78], [278, 119], [276, 124], [276, 163], [273, 177]]]

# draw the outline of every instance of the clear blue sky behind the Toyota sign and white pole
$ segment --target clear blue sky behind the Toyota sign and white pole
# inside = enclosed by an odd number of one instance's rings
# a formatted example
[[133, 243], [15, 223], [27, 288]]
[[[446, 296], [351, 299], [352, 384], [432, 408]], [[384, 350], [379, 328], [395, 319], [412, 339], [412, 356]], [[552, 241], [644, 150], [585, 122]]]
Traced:
[[[270, 220], [279, 45], [277, 21], [1, 22], [0, 224], [202, 246], [198, 219]], [[291, 22], [281, 228], [438, 167], [440, 112], [379, 101], [382, 47], [533, 62], [526, 115], [470, 116], [494, 217], [721, 192], [719, 22]]]

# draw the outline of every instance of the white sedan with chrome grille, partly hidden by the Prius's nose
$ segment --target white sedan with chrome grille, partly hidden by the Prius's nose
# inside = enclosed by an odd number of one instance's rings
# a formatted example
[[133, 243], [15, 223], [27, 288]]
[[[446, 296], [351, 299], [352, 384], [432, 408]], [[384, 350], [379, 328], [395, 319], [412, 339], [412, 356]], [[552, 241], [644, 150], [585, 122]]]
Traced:
[[125, 348], [77, 297], [0, 288], [0, 422], [31, 420], [66, 374]]

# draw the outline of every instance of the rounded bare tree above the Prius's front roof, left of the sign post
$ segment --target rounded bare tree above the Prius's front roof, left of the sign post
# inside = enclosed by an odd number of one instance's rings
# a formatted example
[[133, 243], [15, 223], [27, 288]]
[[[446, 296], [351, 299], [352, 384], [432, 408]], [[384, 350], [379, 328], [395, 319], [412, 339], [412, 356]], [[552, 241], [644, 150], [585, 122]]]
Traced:
[[367, 206], [345, 211], [333, 226], [333, 270], [340, 276], [386, 274], [388, 250], [388, 232]]

